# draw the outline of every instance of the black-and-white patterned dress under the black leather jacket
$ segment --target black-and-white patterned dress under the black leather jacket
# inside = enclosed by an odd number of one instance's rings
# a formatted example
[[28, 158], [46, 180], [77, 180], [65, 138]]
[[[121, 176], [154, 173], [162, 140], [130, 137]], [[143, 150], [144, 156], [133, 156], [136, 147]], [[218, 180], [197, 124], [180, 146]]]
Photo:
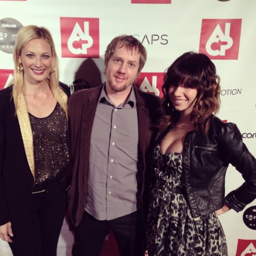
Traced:
[[154, 151], [156, 183], [147, 222], [149, 256], [226, 256], [225, 235], [215, 213], [192, 217], [182, 186], [182, 154]]

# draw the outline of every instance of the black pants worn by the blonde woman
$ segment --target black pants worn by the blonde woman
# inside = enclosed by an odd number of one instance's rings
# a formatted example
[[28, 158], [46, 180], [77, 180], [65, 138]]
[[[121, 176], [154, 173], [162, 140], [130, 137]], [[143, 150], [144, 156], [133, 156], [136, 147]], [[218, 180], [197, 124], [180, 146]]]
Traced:
[[51, 191], [32, 194], [32, 206], [27, 216], [11, 220], [14, 256], [56, 256], [67, 208], [67, 193]]

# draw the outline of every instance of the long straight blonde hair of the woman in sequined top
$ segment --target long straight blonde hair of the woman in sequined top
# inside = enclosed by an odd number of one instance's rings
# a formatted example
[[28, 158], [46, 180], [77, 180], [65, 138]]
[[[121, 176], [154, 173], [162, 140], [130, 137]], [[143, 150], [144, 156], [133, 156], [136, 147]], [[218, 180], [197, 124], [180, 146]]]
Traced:
[[[34, 25], [25, 26], [19, 29], [16, 43], [13, 50], [13, 60], [14, 60], [14, 78], [10, 82], [9, 85], [13, 85], [13, 98], [15, 103], [15, 108], [19, 108], [19, 96], [22, 94], [23, 89], [23, 71], [19, 70], [19, 56], [21, 55], [22, 48], [31, 40], [34, 39], [44, 39], [51, 47], [52, 51], [52, 69], [53, 72], [49, 73], [49, 77], [47, 77], [47, 82], [49, 87], [53, 93], [53, 96], [59, 102], [61, 108], [64, 109], [66, 115], [68, 112], [68, 104], [65, 102], [63, 97], [60, 94], [60, 86], [59, 86], [59, 60], [57, 58], [55, 46], [53, 43], [52, 35], [45, 27], [37, 27]], [[54, 71], [55, 70], [55, 71]]]

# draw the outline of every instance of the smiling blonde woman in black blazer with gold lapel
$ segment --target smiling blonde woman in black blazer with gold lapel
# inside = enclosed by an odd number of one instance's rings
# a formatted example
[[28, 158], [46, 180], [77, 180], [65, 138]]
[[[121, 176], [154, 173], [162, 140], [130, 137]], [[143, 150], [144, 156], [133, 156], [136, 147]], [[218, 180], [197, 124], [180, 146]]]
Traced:
[[69, 88], [50, 32], [20, 28], [0, 91], [0, 237], [14, 256], [54, 256], [67, 198]]

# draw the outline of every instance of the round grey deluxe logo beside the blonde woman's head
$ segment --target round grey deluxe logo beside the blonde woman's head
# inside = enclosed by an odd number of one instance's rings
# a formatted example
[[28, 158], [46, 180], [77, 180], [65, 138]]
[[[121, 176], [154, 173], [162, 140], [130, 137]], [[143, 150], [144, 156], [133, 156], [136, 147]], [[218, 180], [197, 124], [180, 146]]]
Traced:
[[0, 50], [13, 53], [16, 36], [22, 24], [13, 18], [0, 19]]

